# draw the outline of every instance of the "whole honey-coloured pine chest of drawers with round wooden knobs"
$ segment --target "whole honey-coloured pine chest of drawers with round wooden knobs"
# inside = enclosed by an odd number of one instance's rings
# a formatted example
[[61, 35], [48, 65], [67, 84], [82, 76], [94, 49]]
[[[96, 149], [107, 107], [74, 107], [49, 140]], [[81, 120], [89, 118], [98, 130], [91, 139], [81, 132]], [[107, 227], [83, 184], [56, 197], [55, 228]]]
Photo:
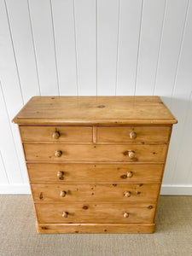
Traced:
[[39, 233], [152, 233], [177, 123], [158, 96], [36, 96], [19, 125]]

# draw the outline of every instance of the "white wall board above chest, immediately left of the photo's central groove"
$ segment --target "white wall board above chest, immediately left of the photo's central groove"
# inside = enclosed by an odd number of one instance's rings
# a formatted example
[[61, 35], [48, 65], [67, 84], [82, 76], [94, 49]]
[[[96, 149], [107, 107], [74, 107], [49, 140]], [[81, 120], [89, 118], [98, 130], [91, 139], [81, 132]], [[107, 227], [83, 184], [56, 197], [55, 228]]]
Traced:
[[96, 96], [96, 0], [74, 0], [79, 96]]

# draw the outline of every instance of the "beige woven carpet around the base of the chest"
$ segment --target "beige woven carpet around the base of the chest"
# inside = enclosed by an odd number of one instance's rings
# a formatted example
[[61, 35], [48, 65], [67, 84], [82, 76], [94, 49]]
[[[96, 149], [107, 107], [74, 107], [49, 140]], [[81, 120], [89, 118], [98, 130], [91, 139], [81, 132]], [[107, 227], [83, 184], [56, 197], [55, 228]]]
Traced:
[[30, 195], [0, 195], [0, 207], [1, 256], [192, 255], [192, 196], [161, 196], [148, 235], [38, 235]]

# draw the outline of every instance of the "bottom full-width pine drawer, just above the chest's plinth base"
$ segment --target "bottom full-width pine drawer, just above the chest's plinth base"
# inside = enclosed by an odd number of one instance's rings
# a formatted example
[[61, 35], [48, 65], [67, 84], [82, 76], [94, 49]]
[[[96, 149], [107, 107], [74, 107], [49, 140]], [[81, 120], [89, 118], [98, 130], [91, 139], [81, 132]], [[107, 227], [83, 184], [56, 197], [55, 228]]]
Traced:
[[155, 204], [35, 203], [39, 223], [153, 223]]

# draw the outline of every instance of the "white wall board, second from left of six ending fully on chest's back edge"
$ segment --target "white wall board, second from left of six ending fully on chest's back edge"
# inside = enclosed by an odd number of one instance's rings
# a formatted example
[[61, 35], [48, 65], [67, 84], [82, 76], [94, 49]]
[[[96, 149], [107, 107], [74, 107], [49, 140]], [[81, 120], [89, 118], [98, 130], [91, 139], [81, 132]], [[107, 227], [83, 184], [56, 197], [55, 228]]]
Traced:
[[78, 94], [75, 27], [72, 0], [51, 1], [60, 94]]

